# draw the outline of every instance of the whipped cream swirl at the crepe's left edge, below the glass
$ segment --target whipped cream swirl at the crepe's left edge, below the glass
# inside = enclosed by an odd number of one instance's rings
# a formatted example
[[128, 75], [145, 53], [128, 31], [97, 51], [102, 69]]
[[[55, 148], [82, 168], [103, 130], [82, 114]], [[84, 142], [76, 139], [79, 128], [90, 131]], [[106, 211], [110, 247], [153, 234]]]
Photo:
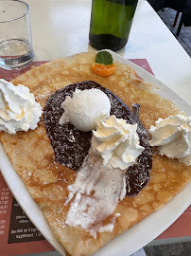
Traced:
[[42, 113], [41, 105], [28, 87], [0, 80], [0, 131], [15, 134], [34, 130]]

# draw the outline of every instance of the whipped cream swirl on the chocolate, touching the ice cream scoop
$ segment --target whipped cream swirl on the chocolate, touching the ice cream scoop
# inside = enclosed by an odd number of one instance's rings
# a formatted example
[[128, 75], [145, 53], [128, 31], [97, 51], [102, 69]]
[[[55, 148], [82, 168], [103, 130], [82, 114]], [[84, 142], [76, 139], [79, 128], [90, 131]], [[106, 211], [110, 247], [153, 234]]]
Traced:
[[115, 116], [101, 120], [93, 131], [93, 152], [101, 155], [105, 166], [120, 170], [129, 168], [145, 150], [140, 146], [136, 129], [136, 123], [130, 124]]

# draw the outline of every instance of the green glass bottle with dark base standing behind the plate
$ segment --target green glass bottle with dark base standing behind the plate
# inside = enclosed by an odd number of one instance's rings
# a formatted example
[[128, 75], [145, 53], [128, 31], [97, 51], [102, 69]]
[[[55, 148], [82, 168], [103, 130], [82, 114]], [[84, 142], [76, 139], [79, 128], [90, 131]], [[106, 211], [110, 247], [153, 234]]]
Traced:
[[138, 0], [93, 0], [90, 44], [96, 49], [126, 46]]

